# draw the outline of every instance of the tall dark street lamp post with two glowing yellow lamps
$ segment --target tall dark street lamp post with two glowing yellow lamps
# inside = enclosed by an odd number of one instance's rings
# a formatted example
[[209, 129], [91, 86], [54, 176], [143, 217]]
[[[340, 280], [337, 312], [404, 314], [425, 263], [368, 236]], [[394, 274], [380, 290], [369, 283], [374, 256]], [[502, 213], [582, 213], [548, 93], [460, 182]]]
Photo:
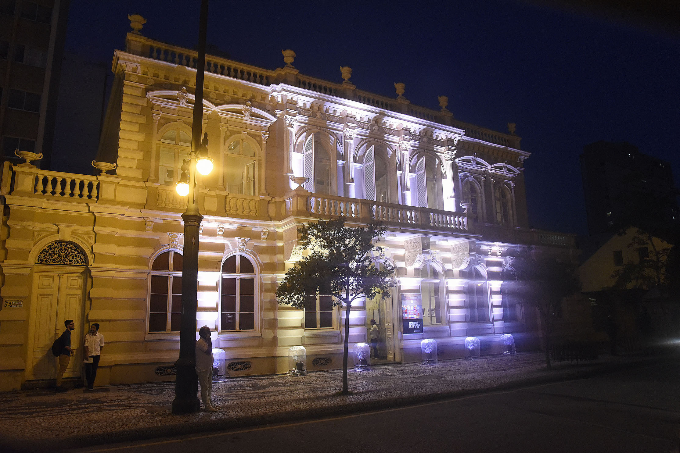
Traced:
[[[199, 228], [203, 215], [196, 200], [197, 162], [207, 158], [207, 149], [201, 145], [203, 128], [203, 77], [205, 71], [205, 31], [208, 21], [208, 0], [201, 0], [199, 22], [199, 49], [196, 67], [196, 90], [192, 121], [191, 153], [182, 165], [182, 177], [177, 183], [177, 193], [188, 195], [184, 220], [184, 261], [182, 266], [182, 318], [180, 322], [180, 358], [175, 362], [175, 399], [173, 414], [199, 412], [198, 377], [196, 374], [196, 306], [199, 275]], [[207, 135], [207, 134], [206, 134]], [[201, 162], [202, 164], [203, 162]], [[203, 169], [199, 164], [199, 170]], [[212, 169], [209, 165], [209, 170]], [[209, 173], [207, 170], [207, 173]], [[188, 175], [187, 175], [188, 173]], [[201, 171], [203, 173], [203, 171]], [[205, 174], [207, 174], [205, 173]], [[188, 179], [188, 181], [187, 181]], [[188, 184], [187, 184], [188, 183]], [[188, 187], [186, 187], [188, 185]]]

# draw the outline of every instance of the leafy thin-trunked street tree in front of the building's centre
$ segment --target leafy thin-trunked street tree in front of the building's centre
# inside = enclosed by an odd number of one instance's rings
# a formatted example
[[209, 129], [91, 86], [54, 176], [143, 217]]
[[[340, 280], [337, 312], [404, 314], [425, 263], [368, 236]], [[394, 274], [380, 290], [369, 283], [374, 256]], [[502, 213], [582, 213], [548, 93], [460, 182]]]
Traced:
[[290, 268], [276, 289], [277, 302], [304, 309], [316, 297], [333, 296], [333, 306], [345, 308], [345, 347], [341, 395], [347, 388], [350, 309], [360, 298], [389, 297], [394, 286], [390, 264], [375, 266], [369, 252], [380, 251], [373, 240], [385, 232], [380, 223], [363, 228], [345, 226], [345, 217], [320, 220], [298, 228], [299, 244], [307, 256]]

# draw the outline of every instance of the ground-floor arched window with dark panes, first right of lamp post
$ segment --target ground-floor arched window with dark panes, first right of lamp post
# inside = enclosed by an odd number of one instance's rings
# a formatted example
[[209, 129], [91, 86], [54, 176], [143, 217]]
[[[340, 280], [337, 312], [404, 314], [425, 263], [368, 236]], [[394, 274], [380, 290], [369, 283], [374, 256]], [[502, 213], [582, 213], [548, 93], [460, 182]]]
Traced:
[[244, 255], [231, 255], [222, 264], [220, 330], [255, 329], [255, 268]]

